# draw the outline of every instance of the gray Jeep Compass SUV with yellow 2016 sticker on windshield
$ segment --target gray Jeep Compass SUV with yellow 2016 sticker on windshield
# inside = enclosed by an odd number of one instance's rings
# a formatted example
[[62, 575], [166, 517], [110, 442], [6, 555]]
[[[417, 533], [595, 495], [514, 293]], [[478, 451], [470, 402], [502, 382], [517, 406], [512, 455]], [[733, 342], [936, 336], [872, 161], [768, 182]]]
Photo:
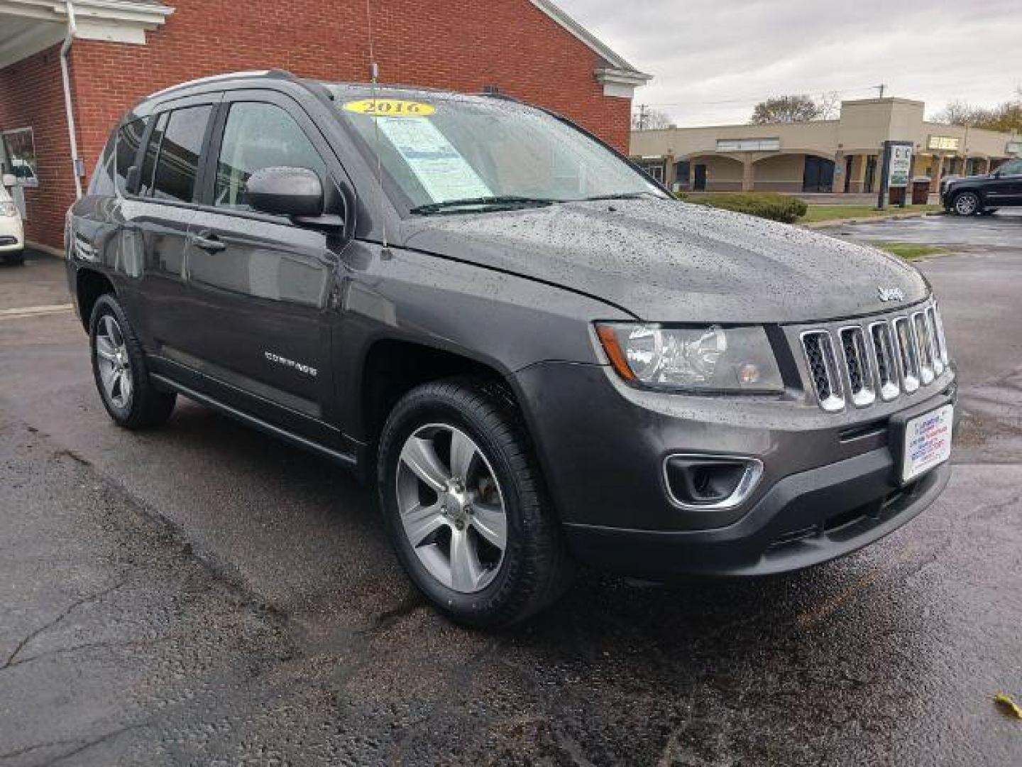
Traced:
[[947, 482], [934, 298], [878, 251], [672, 199], [500, 96], [225, 75], [121, 121], [67, 218], [96, 385], [359, 470], [455, 620], [572, 561], [759, 575], [865, 546]]

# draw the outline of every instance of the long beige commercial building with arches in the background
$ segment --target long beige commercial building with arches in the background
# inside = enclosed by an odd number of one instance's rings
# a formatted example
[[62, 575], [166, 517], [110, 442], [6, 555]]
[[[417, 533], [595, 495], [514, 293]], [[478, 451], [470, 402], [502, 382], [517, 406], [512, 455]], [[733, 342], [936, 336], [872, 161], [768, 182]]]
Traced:
[[1022, 137], [930, 123], [905, 98], [841, 103], [837, 120], [634, 131], [631, 153], [682, 190], [865, 193], [877, 190], [883, 142], [911, 141], [912, 176], [986, 173], [1022, 154]]

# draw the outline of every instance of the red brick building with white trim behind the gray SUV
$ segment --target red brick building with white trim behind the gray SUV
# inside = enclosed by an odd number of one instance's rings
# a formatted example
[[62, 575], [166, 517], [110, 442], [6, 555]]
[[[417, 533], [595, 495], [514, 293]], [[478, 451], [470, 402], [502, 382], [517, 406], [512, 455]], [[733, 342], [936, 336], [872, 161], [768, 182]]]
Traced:
[[239, 70], [365, 81], [370, 13], [381, 82], [496, 86], [628, 151], [649, 76], [549, 0], [0, 0], [0, 163], [19, 178], [27, 239], [61, 246], [75, 169], [85, 184], [139, 98]]

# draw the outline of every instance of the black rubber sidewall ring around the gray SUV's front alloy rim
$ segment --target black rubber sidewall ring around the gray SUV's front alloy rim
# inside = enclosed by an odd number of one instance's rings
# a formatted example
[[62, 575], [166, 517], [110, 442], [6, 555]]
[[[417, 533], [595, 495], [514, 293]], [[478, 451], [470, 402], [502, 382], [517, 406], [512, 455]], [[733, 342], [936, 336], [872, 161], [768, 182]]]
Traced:
[[[445, 423], [467, 434], [479, 447], [497, 477], [507, 516], [508, 543], [500, 571], [480, 591], [465, 594], [437, 582], [419, 560], [401, 522], [398, 506], [397, 473], [401, 449], [418, 428], [429, 423]], [[393, 548], [415, 585], [437, 606], [456, 620], [485, 623], [512, 598], [520, 575], [526, 534], [523, 525], [523, 499], [508, 456], [483, 423], [457, 402], [440, 396], [413, 397], [399, 404], [387, 422], [380, 443], [378, 462], [380, 506], [390, 533]]]

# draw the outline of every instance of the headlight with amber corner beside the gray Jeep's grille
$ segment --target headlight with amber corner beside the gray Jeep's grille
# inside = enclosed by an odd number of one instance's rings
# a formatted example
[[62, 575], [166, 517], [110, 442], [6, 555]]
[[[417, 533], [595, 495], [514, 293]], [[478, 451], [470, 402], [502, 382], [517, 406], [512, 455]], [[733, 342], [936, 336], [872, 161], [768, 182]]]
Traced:
[[781, 371], [762, 327], [661, 327], [600, 323], [617, 373], [651, 389], [781, 392]]

